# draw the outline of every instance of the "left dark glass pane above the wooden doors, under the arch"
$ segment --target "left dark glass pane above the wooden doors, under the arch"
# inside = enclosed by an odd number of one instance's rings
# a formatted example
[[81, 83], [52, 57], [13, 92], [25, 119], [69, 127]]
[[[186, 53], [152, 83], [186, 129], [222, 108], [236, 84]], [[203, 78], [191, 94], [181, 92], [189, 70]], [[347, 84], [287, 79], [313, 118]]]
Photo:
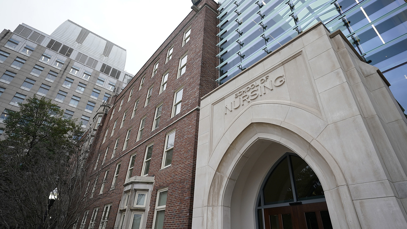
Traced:
[[264, 185], [263, 196], [265, 205], [294, 201], [287, 157], [271, 172]]

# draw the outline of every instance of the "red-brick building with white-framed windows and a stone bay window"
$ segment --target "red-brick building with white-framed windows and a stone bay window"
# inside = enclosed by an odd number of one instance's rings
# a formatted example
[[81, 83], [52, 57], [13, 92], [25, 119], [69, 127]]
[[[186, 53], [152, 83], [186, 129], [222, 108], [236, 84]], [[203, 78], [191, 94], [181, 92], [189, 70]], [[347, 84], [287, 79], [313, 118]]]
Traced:
[[191, 227], [200, 98], [219, 77], [217, 7], [194, 6], [98, 110], [88, 158], [94, 203], [76, 228]]

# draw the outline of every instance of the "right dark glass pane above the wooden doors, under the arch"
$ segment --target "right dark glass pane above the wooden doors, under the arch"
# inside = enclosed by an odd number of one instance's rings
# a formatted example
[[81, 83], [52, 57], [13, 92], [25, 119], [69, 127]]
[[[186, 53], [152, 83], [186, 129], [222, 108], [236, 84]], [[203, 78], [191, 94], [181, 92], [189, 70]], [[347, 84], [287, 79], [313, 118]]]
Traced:
[[291, 156], [298, 200], [324, 198], [324, 190], [315, 172], [300, 157]]

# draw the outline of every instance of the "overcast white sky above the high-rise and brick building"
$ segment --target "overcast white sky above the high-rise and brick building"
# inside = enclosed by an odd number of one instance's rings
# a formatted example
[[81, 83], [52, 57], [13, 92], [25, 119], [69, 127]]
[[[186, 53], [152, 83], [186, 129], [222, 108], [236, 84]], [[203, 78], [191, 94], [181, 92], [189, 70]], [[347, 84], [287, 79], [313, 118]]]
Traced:
[[191, 0], [0, 0], [0, 29], [25, 23], [50, 35], [66, 20], [127, 50], [125, 70], [136, 74], [191, 11]]

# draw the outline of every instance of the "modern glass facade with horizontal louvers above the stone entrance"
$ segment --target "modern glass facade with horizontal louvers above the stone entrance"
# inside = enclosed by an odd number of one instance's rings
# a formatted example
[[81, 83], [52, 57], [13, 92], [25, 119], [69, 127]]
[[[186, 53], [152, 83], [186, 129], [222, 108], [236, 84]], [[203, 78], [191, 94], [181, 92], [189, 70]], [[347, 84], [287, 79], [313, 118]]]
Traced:
[[382, 71], [407, 108], [405, 0], [223, 0], [219, 11], [219, 83], [322, 21]]

